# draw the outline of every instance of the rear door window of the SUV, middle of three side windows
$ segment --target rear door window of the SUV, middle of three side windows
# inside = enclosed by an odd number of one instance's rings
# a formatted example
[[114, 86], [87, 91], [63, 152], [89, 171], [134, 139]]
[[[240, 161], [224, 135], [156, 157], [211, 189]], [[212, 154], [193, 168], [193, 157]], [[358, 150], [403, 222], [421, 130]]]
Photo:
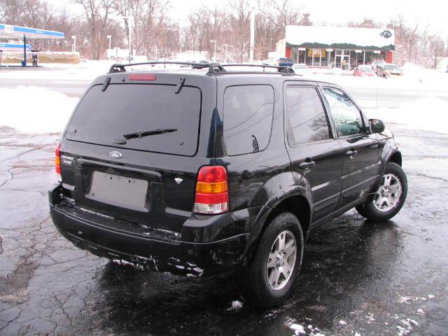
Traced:
[[330, 139], [327, 117], [314, 87], [286, 88], [288, 144]]

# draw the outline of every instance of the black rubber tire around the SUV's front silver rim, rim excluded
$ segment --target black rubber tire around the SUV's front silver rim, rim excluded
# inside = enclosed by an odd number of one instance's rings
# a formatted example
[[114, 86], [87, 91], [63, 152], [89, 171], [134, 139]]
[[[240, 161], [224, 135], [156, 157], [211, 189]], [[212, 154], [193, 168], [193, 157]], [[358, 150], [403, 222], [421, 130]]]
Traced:
[[356, 207], [356, 211], [358, 211], [358, 214], [360, 214], [364, 218], [367, 218], [369, 221], [388, 221], [393, 216], [398, 214], [398, 211], [400, 211], [403, 204], [405, 204], [407, 195], [407, 178], [402, 167], [394, 162], [388, 162], [386, 163], [386, 169], [384, 170], [384, 175], [386, 174], [394, 174], [396, 177], [398, 177], [402, 188], [401, 195], [395, 206], [388, 211], [379, 211], [379, 209], [374, 206], [373, 200], [371, 198], [364, 204], [358, 205], [358, 207]]

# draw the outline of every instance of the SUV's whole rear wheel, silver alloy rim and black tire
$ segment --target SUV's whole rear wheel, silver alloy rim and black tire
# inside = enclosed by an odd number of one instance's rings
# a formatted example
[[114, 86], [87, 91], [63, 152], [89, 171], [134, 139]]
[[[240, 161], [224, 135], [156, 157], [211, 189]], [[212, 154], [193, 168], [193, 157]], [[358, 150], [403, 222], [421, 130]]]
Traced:
[[293, 214], [283, 212], [262, 233], [253, 260], [239, 270], [242, 295], [261, 307], [288, 297], [302, 265], [303, 235]]

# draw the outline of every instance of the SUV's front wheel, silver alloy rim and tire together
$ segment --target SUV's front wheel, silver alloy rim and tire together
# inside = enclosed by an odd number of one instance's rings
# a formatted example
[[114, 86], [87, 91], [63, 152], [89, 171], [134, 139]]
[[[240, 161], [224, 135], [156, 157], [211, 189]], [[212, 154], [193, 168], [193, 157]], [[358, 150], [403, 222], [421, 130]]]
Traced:
[[356, 207], [358, 214], [370, 221], [388, 221], [405, 204], [407, 179], [402, 167], [393, 162], [386, 164], [381, 183], [373, 200]]

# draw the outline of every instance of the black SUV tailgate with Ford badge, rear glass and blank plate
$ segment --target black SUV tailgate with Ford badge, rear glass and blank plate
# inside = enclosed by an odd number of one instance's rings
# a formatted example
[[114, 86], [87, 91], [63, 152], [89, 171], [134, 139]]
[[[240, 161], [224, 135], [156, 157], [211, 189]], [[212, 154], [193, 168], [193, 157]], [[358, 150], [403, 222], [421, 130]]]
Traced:
[[187, 76], [176, 94], [180, 74], [139, 83], [127, 76], [111, 76], [104, 91], [97, 80], [73, 113], [60, 149], [64, 195], [98, 214], [180, 232], [193, 210], [197, 171], [213, 160], [216, 80]]

